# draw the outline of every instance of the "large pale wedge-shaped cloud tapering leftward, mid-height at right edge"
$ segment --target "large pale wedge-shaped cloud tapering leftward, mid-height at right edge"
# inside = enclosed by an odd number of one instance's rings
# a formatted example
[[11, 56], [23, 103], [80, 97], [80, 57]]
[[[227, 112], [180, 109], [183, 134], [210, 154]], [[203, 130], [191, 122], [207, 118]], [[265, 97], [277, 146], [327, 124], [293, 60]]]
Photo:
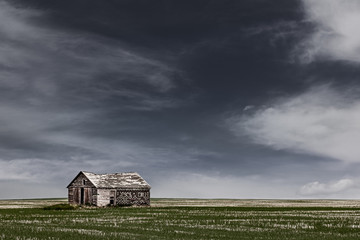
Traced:
[[360, 162], [357, 90], [313, 87], [228, 119], [230, 129], [277, 150]]

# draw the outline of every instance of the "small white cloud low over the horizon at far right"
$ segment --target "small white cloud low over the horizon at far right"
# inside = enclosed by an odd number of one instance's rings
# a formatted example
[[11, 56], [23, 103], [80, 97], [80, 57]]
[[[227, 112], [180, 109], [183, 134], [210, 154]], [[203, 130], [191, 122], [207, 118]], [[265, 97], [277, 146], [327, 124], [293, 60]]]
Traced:
[[349, 178], [340, 179], [328, 183], [310, 182], [302, 186], [299, 194], [304, 196], [329, 195], [341, 193], [356, 187], [356, 182]]

